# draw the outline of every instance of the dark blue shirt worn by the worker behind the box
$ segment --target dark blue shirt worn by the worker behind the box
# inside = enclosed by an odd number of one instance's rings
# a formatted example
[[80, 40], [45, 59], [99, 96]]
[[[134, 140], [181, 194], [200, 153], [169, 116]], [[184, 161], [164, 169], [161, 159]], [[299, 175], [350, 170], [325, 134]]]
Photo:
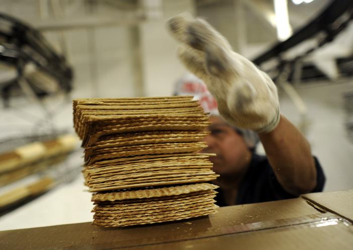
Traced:
[[[310, 192], [322, 192], [325, 184], [325, 175], [319, 161], [314, 157], [317, 172], [316, 186]], [[220, 207], [227, 206], [221, 189], [216, 197], [216, 204]], [[296, 196], [287, 193], [278, 182], [274, 170], [269, 160], [265, 156], [252, 154], [250, 165], [240, 182], [236, 204], [249, 204], [258, 202], [269, 202], [284, 199], [296, 198]]]

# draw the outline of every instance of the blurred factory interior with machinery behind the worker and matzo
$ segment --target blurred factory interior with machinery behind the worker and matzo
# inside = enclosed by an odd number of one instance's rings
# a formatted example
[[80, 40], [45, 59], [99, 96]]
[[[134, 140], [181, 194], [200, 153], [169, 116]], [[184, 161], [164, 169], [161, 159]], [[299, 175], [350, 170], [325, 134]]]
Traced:
[[0, 0], [0, 230], [92, 220], [72, 99], [171, 95], [182, 12], [274, 79], [324, 191], [353, 188], [350, 0]]

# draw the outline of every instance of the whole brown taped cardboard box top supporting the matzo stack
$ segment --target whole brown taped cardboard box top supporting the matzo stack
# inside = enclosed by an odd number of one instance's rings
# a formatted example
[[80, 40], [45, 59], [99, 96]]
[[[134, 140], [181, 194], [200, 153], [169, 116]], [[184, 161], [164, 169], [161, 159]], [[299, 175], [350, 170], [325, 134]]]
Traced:
[[353, 190], [220, 208], [206, 217], [104, 228], [0, 231], [0, 249], [353, 249]]

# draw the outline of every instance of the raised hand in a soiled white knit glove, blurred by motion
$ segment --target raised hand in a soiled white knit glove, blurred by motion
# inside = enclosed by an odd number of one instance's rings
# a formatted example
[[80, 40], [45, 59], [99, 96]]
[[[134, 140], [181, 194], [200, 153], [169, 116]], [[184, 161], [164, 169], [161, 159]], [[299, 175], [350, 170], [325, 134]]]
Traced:
[[280, 120], [277, 88], [251, 61], [235, 53], [205, 20], [180, 14], [167, 22], [181, 42], [178, 55], [215, 97], [219, 113], [238, 128], [271, 132]]

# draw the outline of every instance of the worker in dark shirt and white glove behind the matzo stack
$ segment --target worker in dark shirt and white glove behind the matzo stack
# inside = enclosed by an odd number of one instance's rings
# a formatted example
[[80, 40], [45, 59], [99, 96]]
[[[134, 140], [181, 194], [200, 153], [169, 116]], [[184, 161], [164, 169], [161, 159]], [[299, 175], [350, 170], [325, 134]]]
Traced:
[[[207, 86], [193, 88], [208, 89], [198, 97], [201, 103], [207, 100], [211, 110], [217, 105], [217, 111], [210, 112], [204, 150], [216, 154], [210, 160], [220, 174], [215, 180], [220, 186], [217, 204], [267, 202], [321, 192], [323, 170], [304, 136], [280, 113], [277, 88], [267, 74], [232, 51], [205, 20], [181, 14], [167, 26], [181, 42], [182, 62]], [[249, 131], [257, 134], [266, 156], [254, 153]]]

